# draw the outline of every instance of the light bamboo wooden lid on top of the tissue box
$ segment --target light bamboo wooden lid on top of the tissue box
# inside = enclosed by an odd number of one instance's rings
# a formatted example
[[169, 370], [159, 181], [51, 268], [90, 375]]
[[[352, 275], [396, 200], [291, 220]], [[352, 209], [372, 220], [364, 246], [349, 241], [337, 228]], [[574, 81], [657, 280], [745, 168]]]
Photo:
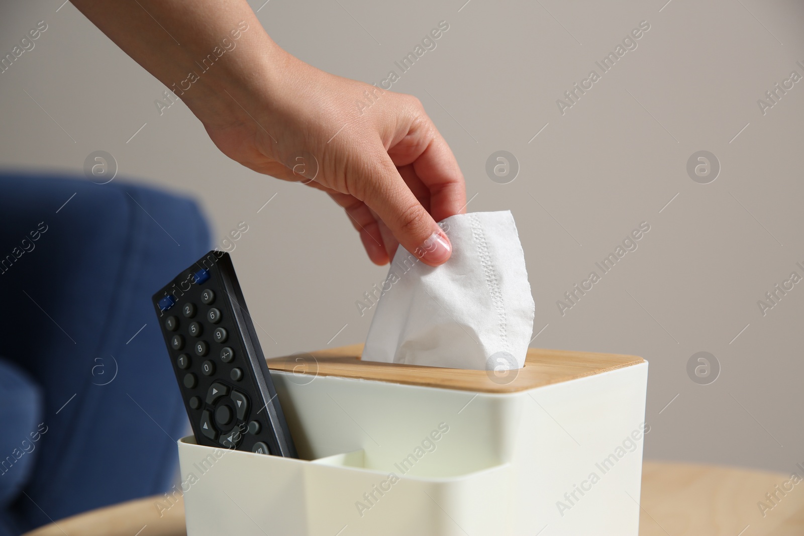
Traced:
[[[634, 355], [594, 354], [568, 350], [529, 348], [525, 366], [511, 371], [513, 379], [492, 381], [486, 370], [449, 369], [436, 366], [401, 365], [362, 361], [363, 345], [340, 346], [310, 354], [266, 359], [270, 370], [404, 383], [481, 393], [513, 393], [552, 383], [600, 374], [644, 362]], [[312, 356], [314, 359], [311, 359]]]

